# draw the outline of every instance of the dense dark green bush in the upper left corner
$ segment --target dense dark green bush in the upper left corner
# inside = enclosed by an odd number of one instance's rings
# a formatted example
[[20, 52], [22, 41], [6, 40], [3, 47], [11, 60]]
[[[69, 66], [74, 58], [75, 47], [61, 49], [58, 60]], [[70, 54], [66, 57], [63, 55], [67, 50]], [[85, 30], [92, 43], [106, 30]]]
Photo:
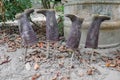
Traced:
[[[24, 9], [32, 6], [30, 0], [2, 0], [4, 5], [5, 20], [13, 20], [16, 13], [23, 12]], [[2, 15], [0, 15], [2, 21]]]

